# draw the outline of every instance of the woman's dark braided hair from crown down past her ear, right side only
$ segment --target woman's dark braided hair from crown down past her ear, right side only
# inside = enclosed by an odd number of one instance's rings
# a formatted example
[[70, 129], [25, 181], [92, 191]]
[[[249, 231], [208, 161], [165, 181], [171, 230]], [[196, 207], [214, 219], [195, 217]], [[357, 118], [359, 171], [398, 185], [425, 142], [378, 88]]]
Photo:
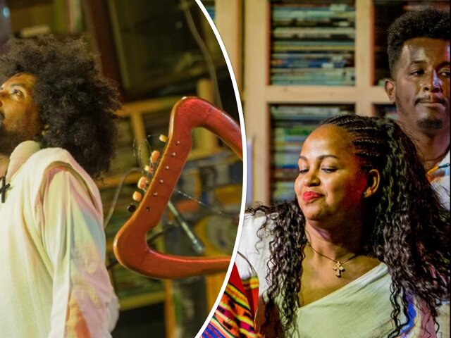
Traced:
[[[424, 303], [435, 320], [437, 302], [450, 297], [449, 224], [443, 223], [449, 213], [426, 180], [413, 142], [399, 125], [383, 118], [341, 115], [323, 124], [345, 129], [362, 167], [381, 173], [381, 189], [371, 199], [365, 219], [371, 234], [364, 249], [383, 261], [392, 277], [395, 330], [389, 337], [407, 325], [409, 296]], [[405, 323], [399, 320], [401, 311]]]

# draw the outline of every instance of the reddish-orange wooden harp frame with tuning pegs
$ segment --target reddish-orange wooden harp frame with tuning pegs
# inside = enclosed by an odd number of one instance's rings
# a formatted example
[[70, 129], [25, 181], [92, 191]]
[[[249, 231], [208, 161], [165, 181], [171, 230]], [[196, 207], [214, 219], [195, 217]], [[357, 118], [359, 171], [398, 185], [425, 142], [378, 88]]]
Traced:
[[113, 250], [126, 268], [154, 278], [182, 278], [227, 270], [229, 257], [191, 257], [161, 253], [147, 244], [158, 225], [192, 147], [196, 127], [210, 130], [242, 159], [240, 125], [227, 113], [197, 97], [180, 99], [171, 111], [168, 141], [146, 194], [114, 238]]

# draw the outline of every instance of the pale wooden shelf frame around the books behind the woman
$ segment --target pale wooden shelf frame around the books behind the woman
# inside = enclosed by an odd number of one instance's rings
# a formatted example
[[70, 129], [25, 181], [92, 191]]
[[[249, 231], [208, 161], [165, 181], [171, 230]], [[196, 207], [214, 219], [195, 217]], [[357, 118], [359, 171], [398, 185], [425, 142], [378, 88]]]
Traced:
[[[295, 3], [296, 1], [292, 1]], [[307, 3], [314, 1], [305, 1]], [[333, 1], [330, 1], [333, 3]], [[235, 8], [236, 9], [236, 8]], [[350, 104], [359, 115], [376, 115], [375, 105], [389, 104], [383, 87], [374, 86], [374, 4], [355, 1], [354, 86], [276, 86], [269, 83], [271, 50], [269, 0], [244, 3], [244, 113], [247, 141], [252, 142], [253, 201], [270, 201], [271, 104]], [[218, 27], [221, 32], [221, 27]], [[224, 33], [224, 32], [221, 32]]]

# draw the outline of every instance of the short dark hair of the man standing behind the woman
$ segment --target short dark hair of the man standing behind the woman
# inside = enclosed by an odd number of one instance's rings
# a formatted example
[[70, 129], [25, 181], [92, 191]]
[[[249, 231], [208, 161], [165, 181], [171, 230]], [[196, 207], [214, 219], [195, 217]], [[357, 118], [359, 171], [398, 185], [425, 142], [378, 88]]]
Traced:
[[427, 7], [420, 11], [408, 11], [388, 27], [387, 54], [392, 77], [402, 45], [415, 37], [431, 37], [450, 41], [450, 13], [433, 7]]

